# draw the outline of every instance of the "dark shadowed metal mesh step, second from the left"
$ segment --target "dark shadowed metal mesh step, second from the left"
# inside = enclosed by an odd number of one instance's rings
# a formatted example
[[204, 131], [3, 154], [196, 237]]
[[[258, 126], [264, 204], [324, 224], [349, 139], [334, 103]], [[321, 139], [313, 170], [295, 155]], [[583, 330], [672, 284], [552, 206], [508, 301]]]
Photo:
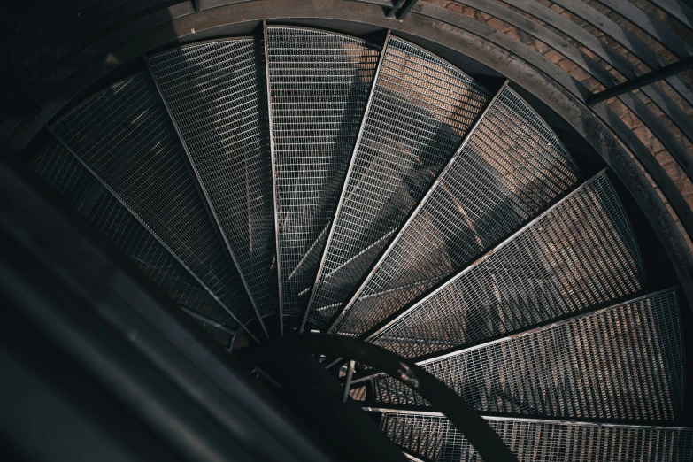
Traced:
[[53, 128], [241, 322], [256, 318], [147, 75], [92, 96]]

